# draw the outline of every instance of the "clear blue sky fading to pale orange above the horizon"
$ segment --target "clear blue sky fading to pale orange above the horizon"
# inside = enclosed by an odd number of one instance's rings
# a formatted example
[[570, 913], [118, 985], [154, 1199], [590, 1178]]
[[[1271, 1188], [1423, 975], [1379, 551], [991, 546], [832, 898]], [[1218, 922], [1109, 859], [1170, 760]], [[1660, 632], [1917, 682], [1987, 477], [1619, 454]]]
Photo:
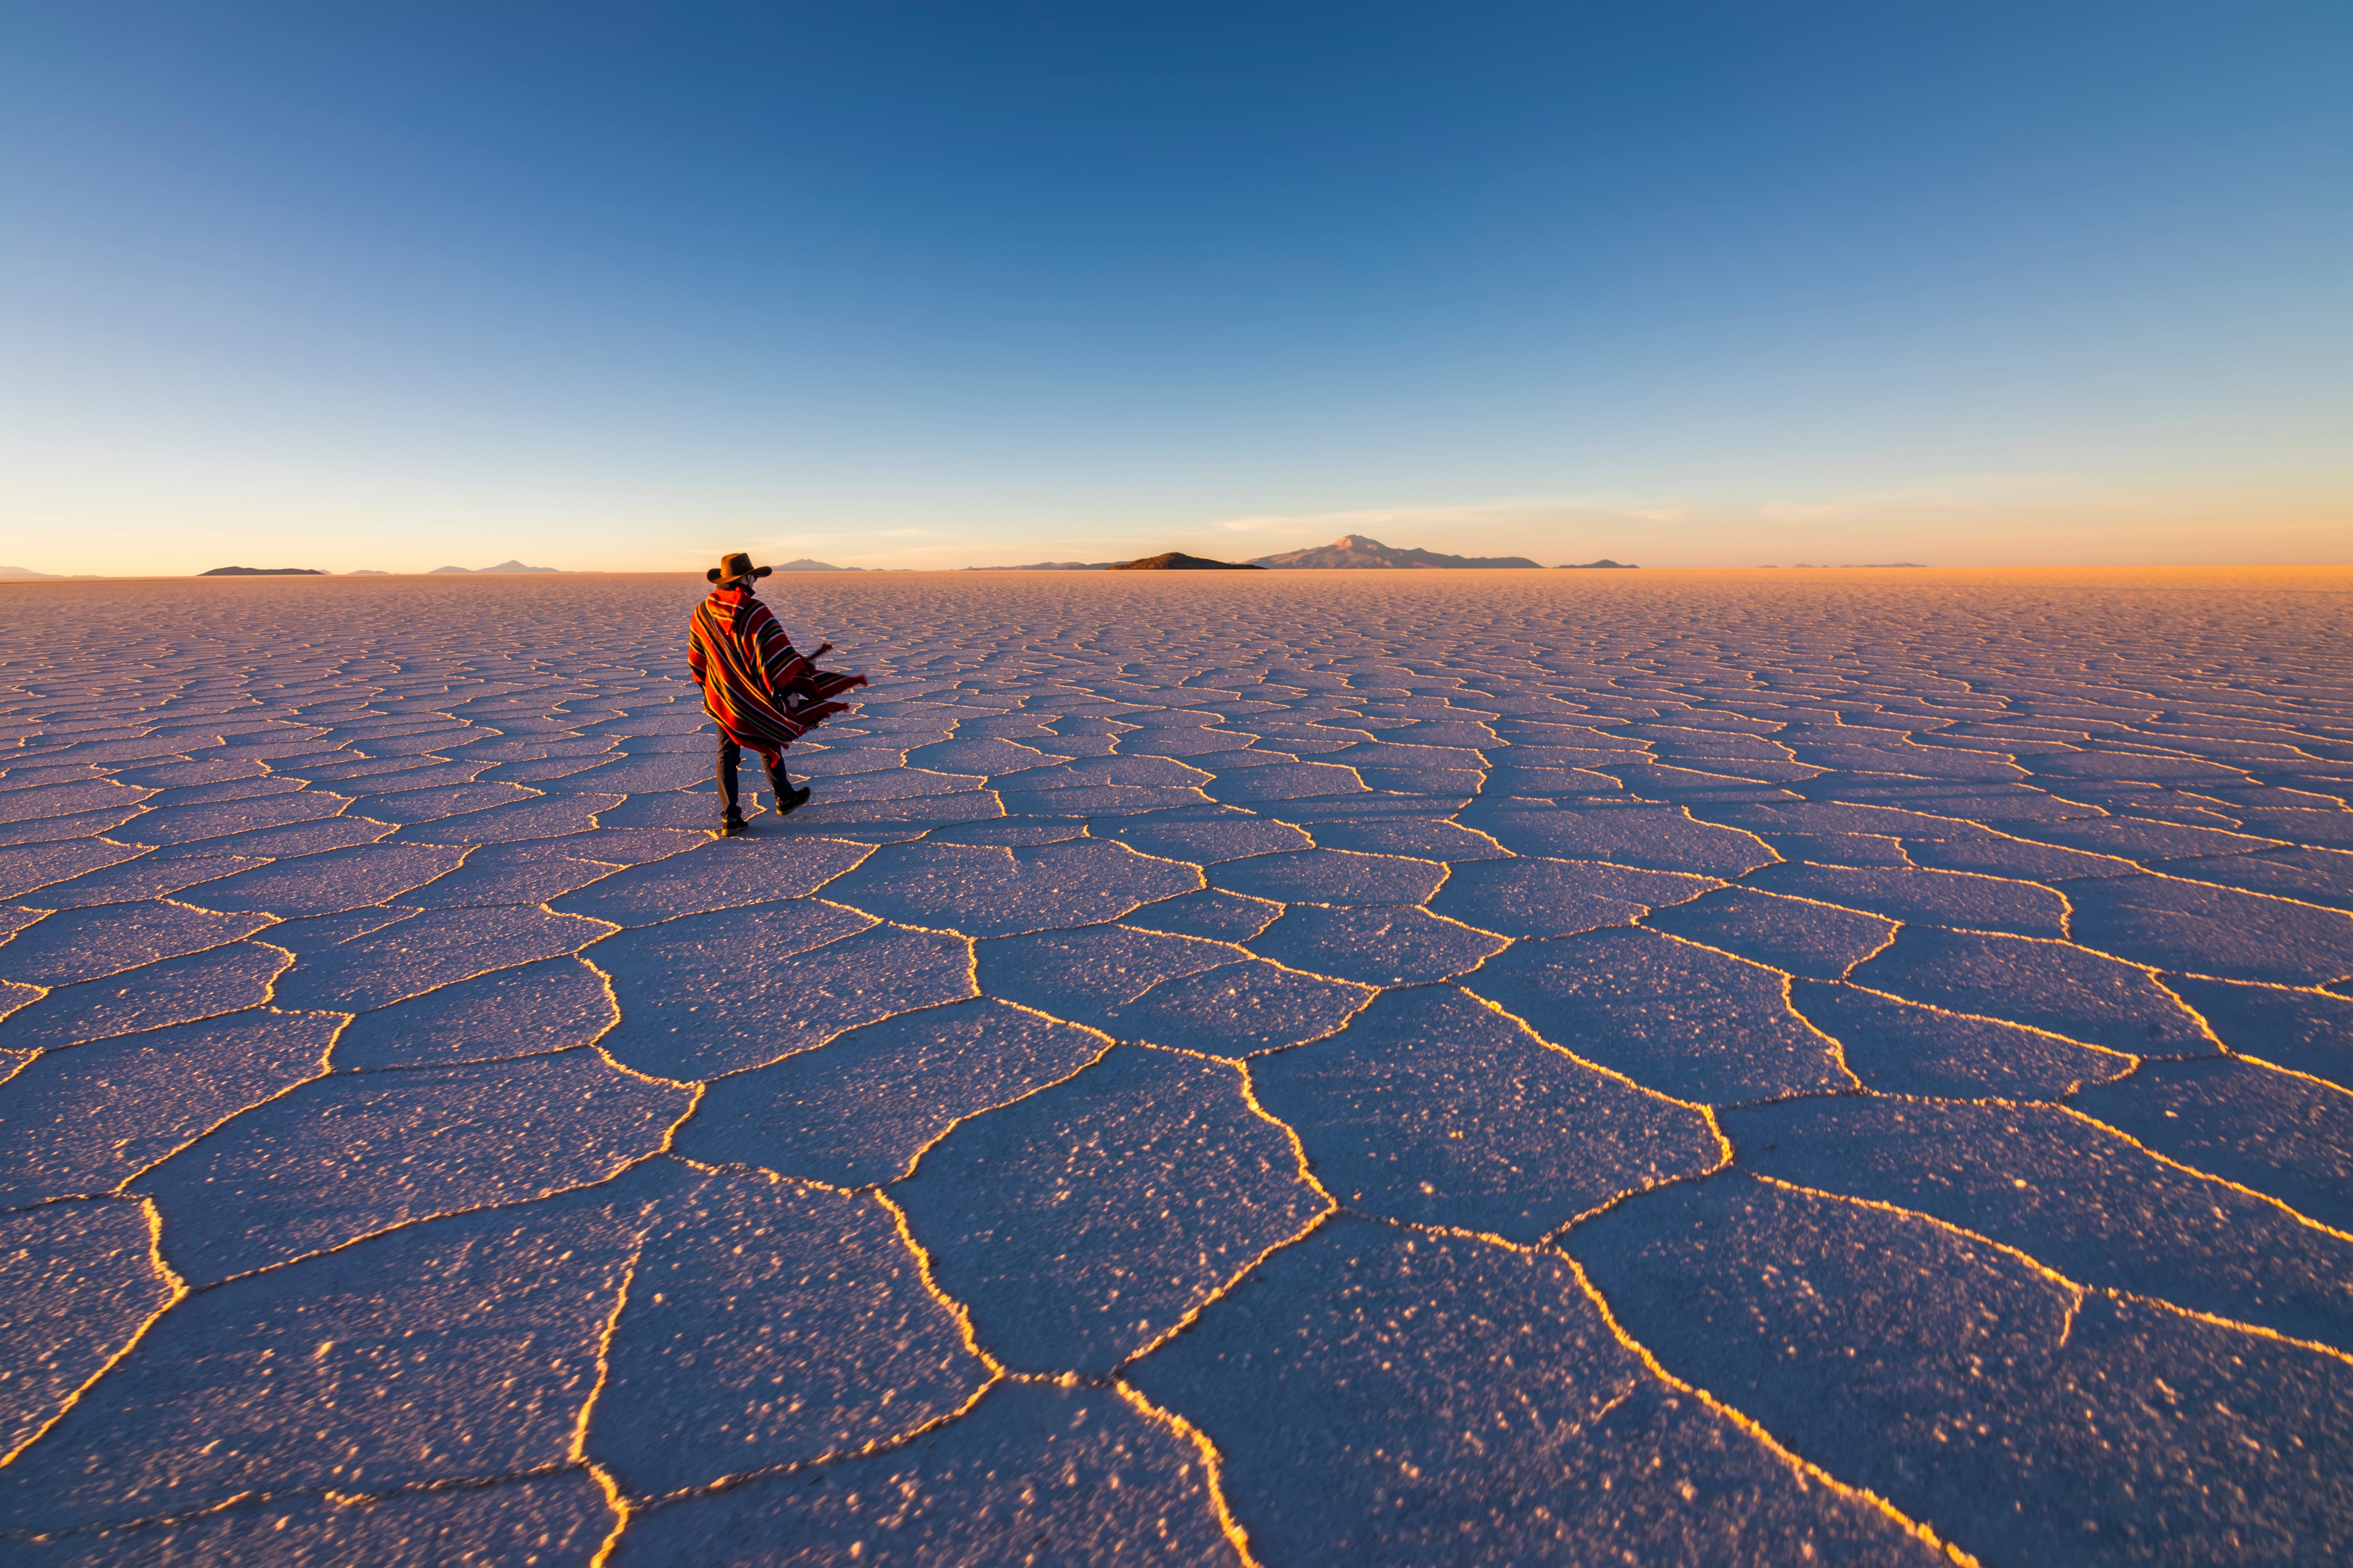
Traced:
[[0, 564], [2353, 559], [2353, 7], [0, 9]]

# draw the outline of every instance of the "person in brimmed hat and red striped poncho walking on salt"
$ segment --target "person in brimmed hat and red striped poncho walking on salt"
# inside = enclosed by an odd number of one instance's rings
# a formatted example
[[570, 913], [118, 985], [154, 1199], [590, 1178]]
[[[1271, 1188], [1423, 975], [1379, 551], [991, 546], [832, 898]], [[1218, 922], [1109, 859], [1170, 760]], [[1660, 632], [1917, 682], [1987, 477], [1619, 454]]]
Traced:
[[776, 816], [807, 804], [809, 785], [793, 788], [784, 771], [784, 748], [842, 712], [842, 691], [864, 686], [864, 675], [819, 670], [816, 658], [833, 651], [826, 642], [816, 654], [793, 649], [784, 625], [760, 602], [755, 585], [774, 567], [753, 567], [751, 555], [722, 555], [704, 576], [718, 583], [694, 607], [687, 632], [687, 670], [704, 689], [704, 712], [720, 726], [720, 832], [744, 832], [736, 806], [736, 764], [744, 752], [758, 752], [767, 766], [767, 785], [776, 797]]

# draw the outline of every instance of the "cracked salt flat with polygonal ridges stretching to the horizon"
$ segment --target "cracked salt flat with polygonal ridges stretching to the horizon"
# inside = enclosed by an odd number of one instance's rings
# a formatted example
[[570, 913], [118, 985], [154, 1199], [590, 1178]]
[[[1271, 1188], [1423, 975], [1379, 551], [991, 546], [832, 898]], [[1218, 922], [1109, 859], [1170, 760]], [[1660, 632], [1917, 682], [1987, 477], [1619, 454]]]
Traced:
[[2353, 571], [0, 588], [26, 1563], [2353, 1542]]

